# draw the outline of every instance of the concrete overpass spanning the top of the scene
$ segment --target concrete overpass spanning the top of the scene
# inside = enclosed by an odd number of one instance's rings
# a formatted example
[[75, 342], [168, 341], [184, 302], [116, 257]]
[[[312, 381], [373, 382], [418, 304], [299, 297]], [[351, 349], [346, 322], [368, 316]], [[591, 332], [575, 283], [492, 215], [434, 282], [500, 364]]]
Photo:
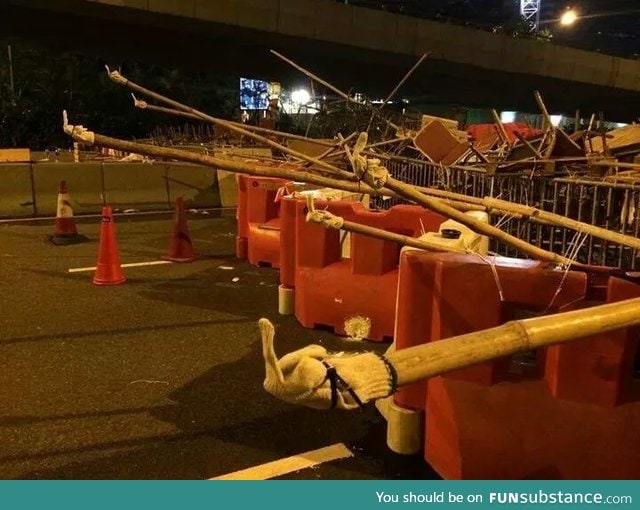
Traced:
[[403, 93], [428, 102], [609, 120], [640, 115], [640, 61], [376, 11], [331, 0], [0, 0], [6, 35], [106, 59], [141, 59], [284, 81], [306, 78], [281, 50], [347, 90], [385, 95], [418, 55]]

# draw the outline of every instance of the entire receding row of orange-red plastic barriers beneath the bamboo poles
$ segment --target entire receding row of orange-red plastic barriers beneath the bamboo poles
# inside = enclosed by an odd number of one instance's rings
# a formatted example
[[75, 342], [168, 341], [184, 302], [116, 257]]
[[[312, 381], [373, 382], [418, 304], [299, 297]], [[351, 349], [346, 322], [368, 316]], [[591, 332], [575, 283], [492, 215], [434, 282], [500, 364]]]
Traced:
[[[360, 315], [371, 320], [367, 338], [394, 337], [395, 348], [404, 349], [640, 296], [640, 285], [615, 276], [594, 283], [593, 273], [565, 274], [534, 261], [401, 253], [395, 243], [358, 234], [344, 258], [344, 232], [307, 223], [303, 199], [276, 200], [285, 181], [242, 179], [238, 254], [280, 267], [281, 290], [295, 293], [292, 311], [305, 327], [345, 334], [345, 321]], [[373, 212], [338, 200], [316, 208], [413, 237], [437, 232], [445, 220], [417, 206]], [[424, 414], [418, 444], [444, 478], [638, 478], [638, 333], [481, 363], [403, 387], [393, 404]]]

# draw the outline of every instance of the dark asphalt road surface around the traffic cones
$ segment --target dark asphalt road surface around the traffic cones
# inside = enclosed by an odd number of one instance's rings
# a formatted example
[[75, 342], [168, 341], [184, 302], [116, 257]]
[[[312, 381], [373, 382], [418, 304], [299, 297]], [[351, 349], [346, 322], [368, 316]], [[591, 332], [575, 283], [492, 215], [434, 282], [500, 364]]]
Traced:
[[[315, 411], [262, 389], [260, 317], [280, 355], [385, 346], [278, 315], [277, 272], [235, 259], [233, 211], [189, 222], [200, 260], [128, 268], [114, 287], [68, 272], [95, 265], [98, 218], [73, 246], [47, 241], [50, 221], [0, 223], [0, 478], [207, 479], [337, 443], [353, 456], [284, 478], [436, 478], [387, 449], [375, 407]], [[169, 215], [116, 226], [123, 263], [166, 252]]]

